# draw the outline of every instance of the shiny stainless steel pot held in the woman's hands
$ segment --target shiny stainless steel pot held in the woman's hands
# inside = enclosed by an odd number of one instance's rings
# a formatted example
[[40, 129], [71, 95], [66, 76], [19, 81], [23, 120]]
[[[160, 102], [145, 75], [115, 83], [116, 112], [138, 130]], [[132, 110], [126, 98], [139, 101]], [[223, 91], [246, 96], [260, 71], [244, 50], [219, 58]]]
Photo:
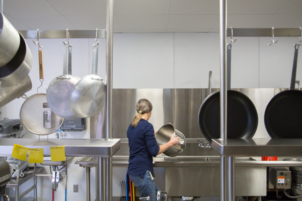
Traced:
[[174, 137], [179, 137], [178, 144], [167, 149], [164, 154], [167, 156], [178, 156], [186, 147], [186, 138], [172, 124], [166, 124], [156, 133], [155, 138], [158, 145], [164, 145], [170, 141], [172, 134]]

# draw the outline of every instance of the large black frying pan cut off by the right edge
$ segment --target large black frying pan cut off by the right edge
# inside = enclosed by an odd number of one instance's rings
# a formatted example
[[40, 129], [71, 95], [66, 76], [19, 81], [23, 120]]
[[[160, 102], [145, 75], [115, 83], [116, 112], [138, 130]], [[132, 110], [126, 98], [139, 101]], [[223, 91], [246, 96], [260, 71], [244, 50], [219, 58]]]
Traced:
[[295, 44], [290, 89], [276, 94], [265, 109], [264, 124], [271, 138], [302, 138], [302, 91], [294, 89], [298, 49]]

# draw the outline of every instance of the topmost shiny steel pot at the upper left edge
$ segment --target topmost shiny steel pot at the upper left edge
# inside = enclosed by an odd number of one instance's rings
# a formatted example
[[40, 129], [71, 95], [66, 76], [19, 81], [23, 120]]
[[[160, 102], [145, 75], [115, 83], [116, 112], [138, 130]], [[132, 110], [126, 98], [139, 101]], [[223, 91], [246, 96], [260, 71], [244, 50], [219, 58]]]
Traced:
[[13, 59], [19, 49], [19, 44], [18, 31], [0, 12], [0, 67]]

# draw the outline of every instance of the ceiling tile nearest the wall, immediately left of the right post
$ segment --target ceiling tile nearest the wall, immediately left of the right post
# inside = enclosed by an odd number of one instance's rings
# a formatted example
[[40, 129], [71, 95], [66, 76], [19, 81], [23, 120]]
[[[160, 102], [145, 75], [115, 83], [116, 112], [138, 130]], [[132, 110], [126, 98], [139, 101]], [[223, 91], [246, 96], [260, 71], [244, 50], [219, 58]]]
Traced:
[[169, 15], [168, 29], [210, 29], [218, 15]]

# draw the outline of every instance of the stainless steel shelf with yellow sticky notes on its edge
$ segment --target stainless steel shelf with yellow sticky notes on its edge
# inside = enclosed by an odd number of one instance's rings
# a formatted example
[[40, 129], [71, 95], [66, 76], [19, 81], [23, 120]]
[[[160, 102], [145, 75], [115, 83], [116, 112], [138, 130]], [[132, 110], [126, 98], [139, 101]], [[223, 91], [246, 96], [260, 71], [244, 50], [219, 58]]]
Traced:
[[0, 156], [13, 152], [14, 144], [28, 148], [43, 148], [44, 156], [50, 156], [50, 147], [64, 146], [65, 155], [111, 157], [120, 148], [120, 139], [0, 139]]

